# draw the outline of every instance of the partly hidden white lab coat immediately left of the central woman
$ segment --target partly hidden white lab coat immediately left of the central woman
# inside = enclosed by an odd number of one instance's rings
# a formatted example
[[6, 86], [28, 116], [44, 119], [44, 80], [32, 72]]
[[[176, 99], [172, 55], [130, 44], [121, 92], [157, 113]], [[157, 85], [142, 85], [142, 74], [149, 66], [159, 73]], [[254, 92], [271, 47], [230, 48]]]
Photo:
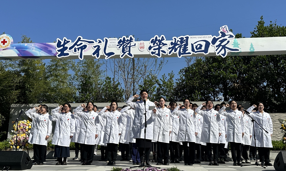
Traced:
[[131, 109], [130, 106], [126, 106], [120, 112], [122, 113], [122, 115], [124, 115], [123, 112], [126, 113], [125, 115], [126, 115], [127, 122], [126, 122], [126, 132], [125, 132], [124, 140], [126, 140], [128, 143], [135, 143], [136, 140], [131, 137], [135, 110]]

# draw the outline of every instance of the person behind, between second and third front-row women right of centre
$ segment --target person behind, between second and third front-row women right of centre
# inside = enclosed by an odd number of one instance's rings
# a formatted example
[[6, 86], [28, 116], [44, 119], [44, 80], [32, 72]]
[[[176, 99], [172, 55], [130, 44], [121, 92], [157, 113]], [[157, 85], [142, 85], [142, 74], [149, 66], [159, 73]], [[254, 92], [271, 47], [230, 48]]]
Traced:
[[[198, 108], [198, 105], [196, 103], [192, 104], [192, 110], [195, 111], [196, 108]], [[202, 154], [201, 154], [201, 144], [205, 144], [200, 141], [200, 135], [202, 134], [202, 123], [203, 123], [203, 117], [202, 115], [198, 114], [195, 112], [196, 115], [196, 121], [197, 121], [197, 126], [198, 126], [198, 135], [196, 136], [196, 143], [195, 143], [195, 160], [194, 163], [200, 163], [200, 160], [202, 159]]]

